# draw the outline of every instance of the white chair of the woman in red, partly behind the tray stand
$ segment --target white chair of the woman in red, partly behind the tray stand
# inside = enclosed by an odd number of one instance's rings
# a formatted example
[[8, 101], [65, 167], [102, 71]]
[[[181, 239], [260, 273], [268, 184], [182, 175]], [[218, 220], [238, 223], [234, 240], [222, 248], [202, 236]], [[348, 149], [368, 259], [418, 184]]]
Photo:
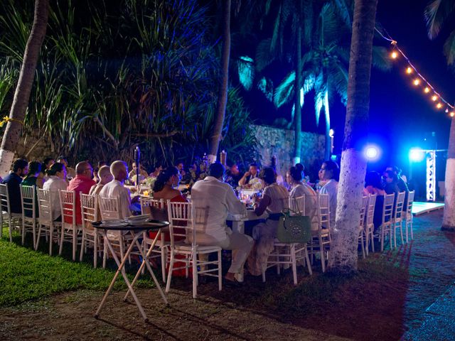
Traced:
[[[168, 210], [166, 207], [166, 203], [164, 202], [164, 199], [152, 199], [151, 197], [141, 197], [139, 199], [139, 202], [141, 203], [141, 214], [146, 215], [151, 213], [151, 210], [154, 210], [154, 212], [161, 212], [161, 215], [166, 215], [166, 219], [158, 219], [158, 220], [168, 220]], [[154, 217], [154, 219], [157, 219], [157, 217]], [[170, 245], [170, 242], [166, 242], [166, 231], [164, 230], [161, 232], [161, 239], [156, 242], [154, 249], [152, 252], [159, 253], [161, 256], [161, 276], [163, 277], [163, 282], [166, 283], [166, 265], [167, 265], [167, 254], [168, 254], [168, 248]], [[143, 239], [143, 249], [144, 249], [144, 254], [147, 254], [147, 251], [149, 250], [149, 247], [153, 243], [153, 239], [149, 238], [149, 235], [144, 233], [144, 239]], [[156, 256], [153, 256], [151, 258], [154, 258]]]

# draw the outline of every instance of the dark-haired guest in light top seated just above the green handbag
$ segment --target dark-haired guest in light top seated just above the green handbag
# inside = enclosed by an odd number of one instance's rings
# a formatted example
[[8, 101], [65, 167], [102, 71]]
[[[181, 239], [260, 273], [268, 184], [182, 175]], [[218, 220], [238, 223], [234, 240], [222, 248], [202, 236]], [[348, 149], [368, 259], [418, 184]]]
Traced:
[[[299, 165], [299, 163], [297, 163]], [[291, 193], [289, 197], [296, 198], [305, 196], [305, 215], [308, 215], [311, 219], [311, 229], [317, 230], [318, 226], [318, 215], [317, 215], [317, 195], [313, 188], [303, 182], [304, 172], [303, 166], [293, 166], [287, 173], [287, 183], [291, 185]], [[300, 207], [299, 207], [300, 208]]]

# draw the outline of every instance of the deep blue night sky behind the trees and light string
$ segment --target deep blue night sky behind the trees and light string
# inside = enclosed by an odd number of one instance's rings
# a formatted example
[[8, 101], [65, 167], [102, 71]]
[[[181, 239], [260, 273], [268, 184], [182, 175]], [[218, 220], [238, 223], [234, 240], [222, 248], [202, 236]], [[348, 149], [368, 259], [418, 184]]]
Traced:
[[[455, 75], [446, 66], [442, 51], [453, 26], [444, 26], [436, 40], [429, 40], [424, 22], [424, 8], [428, 2], [429, 0], [379, 0], [377, 21], [397, 40], [417, 70], [447, 101], [453, 103], [455, 90], [451, 85]], [[375, 38], [374, 43], [390, 47], [390, 43], [382, 38]], [[275, 74], [272, 77], [277, 83], [287, 74], [277, 68], [273, 70]], [[382, 157], [369, 164], [370, 170], [381, 171], [387, 164], [395, 163], [407, 173], [410, 148], [447, 148], [450, 126], [448, 114], [444, 110], [437, 111], [434, 102], [423, 94], [422, 87], [414, 87], [412, 80], [412, 77], [405, 74], [403, 60], [395, 62], [389, 72], [372, 71], [369, 140], [382, 148]], [[275, 109], [272, 103], [264, 100], [259, 90], [243, 92], [243, 95], [253, 119], [260, 119], [266, 124], [272, 124], [275, 117], [290, 119], [290, 106]], [[309, 95], [305, 99], [302, 114], [303, 129], [323, 134], [324, 123], [321, 121], [319, 128], [316, 126], [313, 108], [314, 103]], [[346, 108], [338, 99], [333, 100], [331, 126], [336, 132], [335, 153], [341, 153], [345, 115]], [[264, 120], [264, 116], [269, 117], [269, 121]], [[436, 133], [436, 139], [429, 137], [432, 131]], [[443, 171], [442, 167], [439, 168]]]

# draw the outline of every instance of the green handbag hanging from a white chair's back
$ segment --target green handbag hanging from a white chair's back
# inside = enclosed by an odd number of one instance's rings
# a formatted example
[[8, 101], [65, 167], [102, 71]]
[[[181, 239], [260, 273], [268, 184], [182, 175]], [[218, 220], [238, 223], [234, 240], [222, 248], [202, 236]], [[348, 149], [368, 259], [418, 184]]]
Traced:
[[[295, 215], [291, 215], [293, 212]], [[311, 240], [311, 219], [298, 212], [283, 210], [279, 217], [277, 239], [282, 243], [307, 243]]]

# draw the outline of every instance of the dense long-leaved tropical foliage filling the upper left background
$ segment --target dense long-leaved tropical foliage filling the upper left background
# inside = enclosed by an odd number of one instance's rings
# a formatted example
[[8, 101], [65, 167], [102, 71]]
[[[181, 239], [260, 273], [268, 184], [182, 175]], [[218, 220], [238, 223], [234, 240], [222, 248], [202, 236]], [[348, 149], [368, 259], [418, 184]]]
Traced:
[[[33, 1], [14, 2], [0, 10], [1, 116], [33, 13]], [[24, 132], [80, 158], [129, 159], [137, 145], [151, 162], [203, 153], [219, 77], [209, 20], [196, 0], [51, 1]]]

